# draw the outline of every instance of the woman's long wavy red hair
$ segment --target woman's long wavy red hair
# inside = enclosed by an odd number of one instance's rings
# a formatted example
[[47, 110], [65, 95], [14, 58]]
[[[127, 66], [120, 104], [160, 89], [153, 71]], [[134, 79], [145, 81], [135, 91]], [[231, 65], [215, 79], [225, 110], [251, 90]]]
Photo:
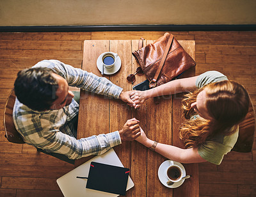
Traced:
[[[191, 104], [196, 102], [200, 91], [205, 91], [207, 112], [211, 120], [202, 117], [191, 118], [195, 111]], [[245, 88], [234, 81], [220, 81], [207, 84], [192, 93], [185, 95], [182, 109], [186, 122], [180, 127], [179, 137], [186, 148], [204, 143], [218, 132], [224, 135], [233, 134], [237, 125], [248, 113], [250, 98]]]

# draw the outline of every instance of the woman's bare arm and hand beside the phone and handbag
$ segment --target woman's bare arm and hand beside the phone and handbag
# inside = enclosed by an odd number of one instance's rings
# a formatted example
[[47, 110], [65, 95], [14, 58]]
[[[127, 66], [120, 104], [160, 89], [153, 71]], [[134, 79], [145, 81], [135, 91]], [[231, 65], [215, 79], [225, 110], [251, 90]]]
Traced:
[[150, 98], [195, 90], [197, 77], [198, 76], [169, 81], [166, 84], [157, 86], [156, 88], [152, 88], [147, 91], [132, 91], [130, 97], [135, 102], [136, 109], [140, 107], [145, 100]]

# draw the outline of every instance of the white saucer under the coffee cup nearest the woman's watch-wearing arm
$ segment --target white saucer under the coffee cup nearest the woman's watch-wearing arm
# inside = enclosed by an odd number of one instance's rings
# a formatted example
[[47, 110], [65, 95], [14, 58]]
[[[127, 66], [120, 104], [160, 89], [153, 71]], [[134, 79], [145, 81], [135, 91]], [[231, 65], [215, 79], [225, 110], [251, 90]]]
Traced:
[[[166, 186], [166, 187], [169, 187], [169, 188], [176, 188], [176, 187], [179, 187], [180, 185], [183, 184], [183, 182], [185, 181], [185, 179], [183, 180], [180, 180], [179, 182], [175, 182], [174, 184], [172, 185], [167, 185], [166, 182], [168, 181], [168, 178], [167, 178], [167, 175], [165, 174], [166, 173], [166, 168], [168, 168], [168, 166], [170, 166], [170, 161], [172, 160], [166, 160], [164, 161], [160, 166], [159, 166], [159, 169], [158, 169], [158, 178], [160, 180], [160, 182]], [[180, 168], [182, 169], [183, 171], [183, 177], [186, 176], [186, 170], [184, 168], [184, 166], [182, 164], [180, 164], [180, 162], [176, 162], [176, 161], [173, 161], [174, 164], [176, 164], [177, 166], [180, 166]]]

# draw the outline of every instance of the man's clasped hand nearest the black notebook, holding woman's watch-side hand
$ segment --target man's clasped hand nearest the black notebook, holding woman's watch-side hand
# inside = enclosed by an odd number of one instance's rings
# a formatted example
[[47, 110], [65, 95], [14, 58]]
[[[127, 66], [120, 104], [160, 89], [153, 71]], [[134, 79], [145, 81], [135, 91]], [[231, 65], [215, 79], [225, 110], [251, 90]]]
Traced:
[[119, 130], [119, 134], [122, 141], [132, 141], [140, 136], [140, 121], [136, 118], [127, 120], [123, 129]]

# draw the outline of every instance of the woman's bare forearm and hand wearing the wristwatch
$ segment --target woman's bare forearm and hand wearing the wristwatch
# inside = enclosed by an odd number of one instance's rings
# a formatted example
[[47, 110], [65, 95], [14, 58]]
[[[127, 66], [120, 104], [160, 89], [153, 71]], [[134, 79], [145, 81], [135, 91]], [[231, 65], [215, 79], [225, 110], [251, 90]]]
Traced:
[[[145, 132], [141, 129], [141, 136], [136, 139], [136, 141], [141, 144], [151, 147], [154, 143], [151, 139], [148, 139]], [[205, 162], [199, 154], [197, 148], [178, 148], [172, 145], [164, 145], [162, 143], [157, 143], [155, 151], [168, 159], [182, 163], [196, 163]]]

